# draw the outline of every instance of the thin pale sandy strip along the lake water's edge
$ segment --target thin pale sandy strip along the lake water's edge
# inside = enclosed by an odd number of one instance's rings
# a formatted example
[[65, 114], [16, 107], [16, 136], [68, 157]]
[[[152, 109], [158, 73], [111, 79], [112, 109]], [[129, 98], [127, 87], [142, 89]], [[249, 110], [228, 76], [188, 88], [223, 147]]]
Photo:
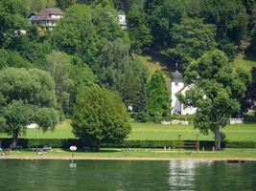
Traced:
[[[1, 159], [28, 159], [28, 160], [41, 160], [41, 159], [62, 159], [62, 160], [71, 160], [70, 157], [65, 157], [65, 156], [1, 156]], [[225, 161], [225, 160], [244, 160], [244, 161], [256, 161], [256, 158], [116, 158], [116, 157], [74, 157], [75, 160], [149, 160], [149, 161], [171, 161], [171, 160], [201, 160], [201, 161]]]

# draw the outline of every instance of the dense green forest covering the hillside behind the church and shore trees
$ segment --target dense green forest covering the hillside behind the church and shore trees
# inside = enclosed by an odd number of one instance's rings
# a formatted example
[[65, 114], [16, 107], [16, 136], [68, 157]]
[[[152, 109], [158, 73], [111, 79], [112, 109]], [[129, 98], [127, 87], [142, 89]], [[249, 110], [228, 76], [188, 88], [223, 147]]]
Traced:
[[[32, 25], [28, 16], [47, 7], [63, 11], [57, 26]], [[127, 16], [126, 31], [119, 12]], [[149, 74], [134, 55], [164, 55], [170, 73], [178, 63], [189, 79], [190, 66], [205, 53], [220, 50], [227, 62], [253, 57], [255, 24], [255, 0], [0, 0], [0, 69], [51, 74], [60, 119], [73, 116], [81, 90], [97, 85], [121, 96], [135, 119], [156, 120], [170, 115], [167, 81], [160, 72]], [[234, 73], [244, 77], [246, 111], [256, 99], [255, 76], [249, 84], [248, 73]]]

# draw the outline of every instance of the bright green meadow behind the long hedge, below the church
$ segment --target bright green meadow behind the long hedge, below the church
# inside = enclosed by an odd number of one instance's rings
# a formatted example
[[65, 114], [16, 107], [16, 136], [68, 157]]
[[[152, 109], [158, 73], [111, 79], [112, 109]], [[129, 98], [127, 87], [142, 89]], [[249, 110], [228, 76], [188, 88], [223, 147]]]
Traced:
[[[74, 138], [71, 132], [70, 120], [61, 122], [55, 131], [36, 131], [29, 129], [26, 135], [21, 138]], [[170, 140], [177, 139], [180, 134], [182, 139], [196, 139], [198, 130], [192, 125], [161, 125], [154, 123], [131, 123], [132, 132], [128, 139], [159, 139]], [[229, 140], [256, 140], [256, 124], [229, 125], [223, 129], [226, 139]], [[7, 136], [0, 135], [2, 138]], [[36, 136], [36, 137], [35, 137]], [[213, 140], [214, 135], [204, 136], [199, 134], [200, 140]]]

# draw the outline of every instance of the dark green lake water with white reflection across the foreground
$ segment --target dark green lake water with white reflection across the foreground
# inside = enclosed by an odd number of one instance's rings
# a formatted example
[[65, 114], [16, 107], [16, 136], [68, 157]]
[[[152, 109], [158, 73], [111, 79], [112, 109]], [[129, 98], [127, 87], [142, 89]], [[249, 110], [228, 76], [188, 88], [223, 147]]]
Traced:
[[0, 159], [0, 191], [256, 190], [256, 162]]

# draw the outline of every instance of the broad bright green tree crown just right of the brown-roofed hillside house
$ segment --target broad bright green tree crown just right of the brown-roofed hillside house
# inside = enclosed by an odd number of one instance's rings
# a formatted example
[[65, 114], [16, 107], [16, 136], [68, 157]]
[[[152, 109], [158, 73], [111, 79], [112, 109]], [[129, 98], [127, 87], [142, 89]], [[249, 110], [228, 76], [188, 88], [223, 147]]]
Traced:
[[114, 16], [101, 7], [72, 6], [64, 12], [50, 40], [58, 50], [79, 55], [84, 63], [93, 65], [107, 40], [127, 39]]

